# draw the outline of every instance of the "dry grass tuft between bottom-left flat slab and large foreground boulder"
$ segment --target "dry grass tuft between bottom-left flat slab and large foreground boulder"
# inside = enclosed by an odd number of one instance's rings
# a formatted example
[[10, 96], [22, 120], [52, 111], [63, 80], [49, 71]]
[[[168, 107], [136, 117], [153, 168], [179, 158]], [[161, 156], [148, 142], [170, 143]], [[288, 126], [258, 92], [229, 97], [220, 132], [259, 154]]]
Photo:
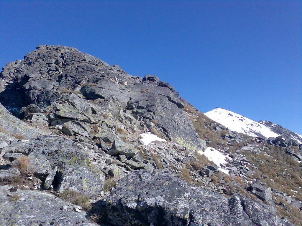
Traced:
[[82, 206], [84, 210], [88, 210], [90, 208], [90, 197], [78, 191], [67, 189], [64, 190], [62, 193], [59, 193], [57, 196], [60, 199], [64, 199], [68, 202], [71, 202], [72, 204]]

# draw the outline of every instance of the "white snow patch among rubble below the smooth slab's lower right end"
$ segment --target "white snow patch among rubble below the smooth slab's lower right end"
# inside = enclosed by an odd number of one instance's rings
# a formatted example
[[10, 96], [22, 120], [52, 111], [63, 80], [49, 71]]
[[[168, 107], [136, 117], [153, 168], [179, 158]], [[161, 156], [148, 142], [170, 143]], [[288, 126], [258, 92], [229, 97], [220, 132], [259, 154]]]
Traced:
[[216, 150], [212, 147], [207, 147], [204, 151], [198, 151], [199, 154], [205, 155], [209, 161], [214, 162], [217, 165], [219, 170], [225, 174], [229, 174], [229, 170], [226, 170], [221, 167], [221, 165], [225, 165], [226, 158], [231, 158], [228, 155], [223, 155], [220, 151]]

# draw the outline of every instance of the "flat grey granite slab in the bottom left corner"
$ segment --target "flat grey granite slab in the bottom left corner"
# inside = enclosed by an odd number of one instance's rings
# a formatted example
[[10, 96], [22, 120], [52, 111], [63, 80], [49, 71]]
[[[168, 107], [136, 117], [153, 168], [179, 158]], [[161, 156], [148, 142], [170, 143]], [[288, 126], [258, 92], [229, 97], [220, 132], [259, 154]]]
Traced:
[[49, 193], [18, 189], [10, 193], [9, 186], [0, 186], [1, 225], [97, 226], [85, 218], [86, 212], [60, 210], [74, 207]]

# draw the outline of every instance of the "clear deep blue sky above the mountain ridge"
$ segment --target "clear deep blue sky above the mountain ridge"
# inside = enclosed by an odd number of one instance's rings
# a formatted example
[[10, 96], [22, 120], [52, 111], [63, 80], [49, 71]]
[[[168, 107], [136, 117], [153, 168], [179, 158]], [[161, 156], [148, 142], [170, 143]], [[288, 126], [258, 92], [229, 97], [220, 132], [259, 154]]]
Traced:
[[72, 46], [156, 75], [202, 112], [221, 107], [302, 134], [301, 1], [0, 2], [0, 67]]

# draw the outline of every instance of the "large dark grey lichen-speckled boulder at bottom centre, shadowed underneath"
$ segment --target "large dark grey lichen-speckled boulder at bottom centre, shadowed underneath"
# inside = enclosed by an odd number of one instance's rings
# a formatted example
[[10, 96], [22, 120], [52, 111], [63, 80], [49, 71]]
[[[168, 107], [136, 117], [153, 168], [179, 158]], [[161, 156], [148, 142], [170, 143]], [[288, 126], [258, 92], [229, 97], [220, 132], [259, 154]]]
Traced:
[[120, 179], [107, 199], [107, 214], [119, 226], [292, 225], [270, 206], [237, 196], [227, 199], [161, 170], [140, 170]]

